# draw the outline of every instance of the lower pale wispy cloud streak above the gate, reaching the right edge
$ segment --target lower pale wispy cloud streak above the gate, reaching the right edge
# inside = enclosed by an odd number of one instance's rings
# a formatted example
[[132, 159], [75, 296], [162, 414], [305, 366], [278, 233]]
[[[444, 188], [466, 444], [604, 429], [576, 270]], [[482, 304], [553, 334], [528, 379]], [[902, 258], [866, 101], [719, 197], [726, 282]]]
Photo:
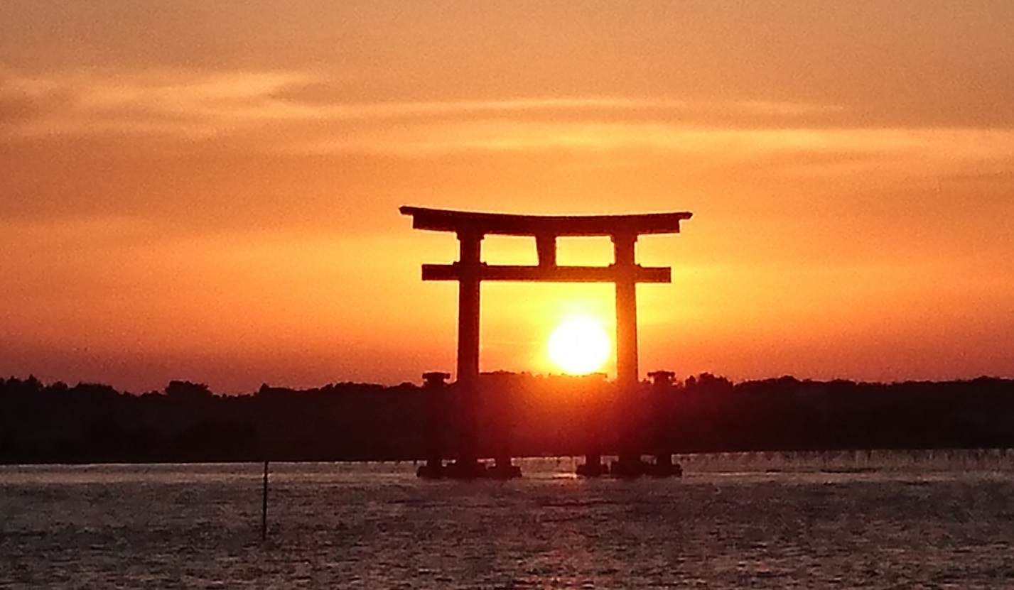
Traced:
[[[961, 169], [969, 163], [1014, 159], [1014, 130], [984, 129], [722, 129], [665, 122], [556, 123], [483, 119], [388, 127], [327, 138], [293, 149], [312, 153], [360, 152], [435, 157], [464, 152], [650, 152], [702, 157], [715, 165], [783, 158], [801, 171], [813, 158], [869, 168], [912, 164], [922, 172]], [[795, 157], [797, 160], [792, 161]], [[996, 169], [1008, 169], [1003, 165]], [[779, 169], [782, 167], [779, 166]]]

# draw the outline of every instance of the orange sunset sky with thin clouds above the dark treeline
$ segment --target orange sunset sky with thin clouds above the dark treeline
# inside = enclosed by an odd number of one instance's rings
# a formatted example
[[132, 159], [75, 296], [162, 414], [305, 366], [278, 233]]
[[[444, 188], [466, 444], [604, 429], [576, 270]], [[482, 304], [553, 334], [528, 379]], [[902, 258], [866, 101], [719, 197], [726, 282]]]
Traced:
[[[639, 242], [673, 268], [642, 372], [1012, 377], [1012, 29], [1008, 0], [4, 2], [0, 375], [452, 370], [455, 286], [419, 267], [456, 241], [418, 205], [692, 211]], [[483, 296], [484, 370], [612, 321], [608, 285]]]

